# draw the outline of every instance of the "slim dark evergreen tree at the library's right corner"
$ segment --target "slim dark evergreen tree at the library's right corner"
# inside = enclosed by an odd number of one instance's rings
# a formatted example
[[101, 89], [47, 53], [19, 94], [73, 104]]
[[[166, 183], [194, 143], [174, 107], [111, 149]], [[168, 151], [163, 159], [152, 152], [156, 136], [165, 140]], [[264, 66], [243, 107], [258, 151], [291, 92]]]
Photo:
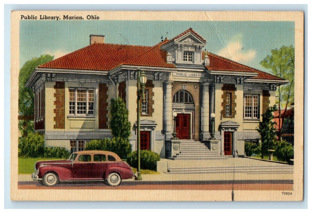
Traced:
[[259, 128], [256, 130], [261, 135], [261, 155], [262, 159], [266, 154], [268, 154], [268, 150], [273, 148], [274, 140], [276, 137], [274, 125], [276, 124], [273, 122], [273, 112], [276, 110], [276, 106], [270, 107], [264, 114], [262, 121], [259, 122]]

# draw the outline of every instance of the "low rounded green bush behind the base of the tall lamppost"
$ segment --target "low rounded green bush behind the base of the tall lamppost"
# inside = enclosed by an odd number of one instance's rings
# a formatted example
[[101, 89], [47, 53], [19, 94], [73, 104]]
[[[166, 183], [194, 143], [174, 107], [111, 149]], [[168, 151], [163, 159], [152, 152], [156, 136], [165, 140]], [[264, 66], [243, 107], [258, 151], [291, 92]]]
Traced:
[[[157, 161], [160, 161], [160, 156], [151, 150], [141, 150], [141, 169], [157, 169]], [[138, 167], [138, 153], [134, 151], [127, 156], [127, 162], [130, 166], [137, 168]]]

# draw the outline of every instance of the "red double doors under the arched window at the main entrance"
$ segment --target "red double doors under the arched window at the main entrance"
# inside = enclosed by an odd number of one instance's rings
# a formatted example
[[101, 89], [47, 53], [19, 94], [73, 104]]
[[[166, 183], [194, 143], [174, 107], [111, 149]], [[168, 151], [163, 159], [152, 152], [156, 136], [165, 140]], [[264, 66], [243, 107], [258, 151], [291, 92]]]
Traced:
[[176, 133], [181, 140], [190, 139], [190, 114], [177, 114]]

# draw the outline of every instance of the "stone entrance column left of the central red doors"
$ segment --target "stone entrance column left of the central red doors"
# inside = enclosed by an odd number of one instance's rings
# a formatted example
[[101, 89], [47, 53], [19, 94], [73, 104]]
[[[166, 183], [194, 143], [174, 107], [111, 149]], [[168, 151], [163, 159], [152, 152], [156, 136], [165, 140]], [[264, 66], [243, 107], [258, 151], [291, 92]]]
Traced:
[[165, 88], [165, 110], [163, 120], [165, 122], [164, 133], [165, 139], [172, 138], [172, 81], [164, 82]]

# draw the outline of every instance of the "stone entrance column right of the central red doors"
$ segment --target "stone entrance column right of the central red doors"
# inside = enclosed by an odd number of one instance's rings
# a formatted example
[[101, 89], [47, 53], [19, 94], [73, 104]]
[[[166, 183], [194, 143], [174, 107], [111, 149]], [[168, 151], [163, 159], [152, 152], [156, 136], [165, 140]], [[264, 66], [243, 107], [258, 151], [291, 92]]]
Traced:
[[201, 139], [209, 139], [209, 83], [203, 83], [202, 90], [202, 132]]

